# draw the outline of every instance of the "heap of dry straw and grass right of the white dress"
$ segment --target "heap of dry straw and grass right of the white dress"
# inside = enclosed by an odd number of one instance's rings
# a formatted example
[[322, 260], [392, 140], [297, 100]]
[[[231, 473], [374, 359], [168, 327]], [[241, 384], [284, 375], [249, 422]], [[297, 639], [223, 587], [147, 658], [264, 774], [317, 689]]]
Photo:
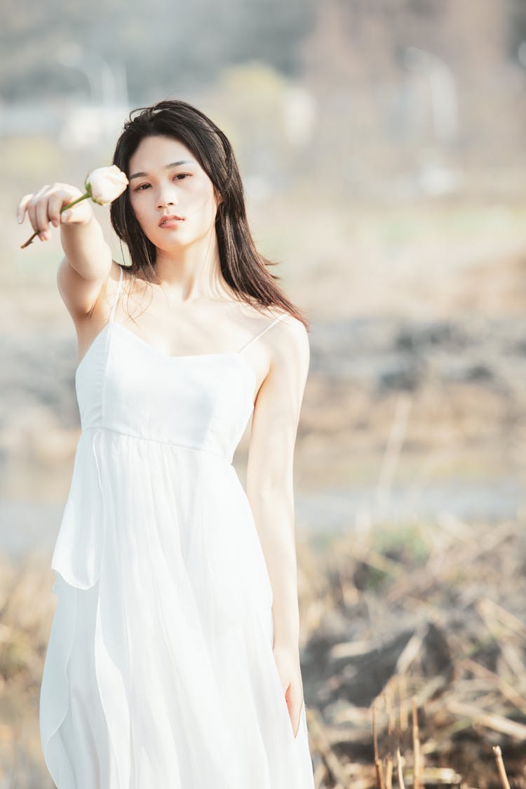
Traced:
[[318, 789], [498, 787], [497, 748], [526, 786], [524, 525], [371, 527], [317, 562], [299, 544]]

